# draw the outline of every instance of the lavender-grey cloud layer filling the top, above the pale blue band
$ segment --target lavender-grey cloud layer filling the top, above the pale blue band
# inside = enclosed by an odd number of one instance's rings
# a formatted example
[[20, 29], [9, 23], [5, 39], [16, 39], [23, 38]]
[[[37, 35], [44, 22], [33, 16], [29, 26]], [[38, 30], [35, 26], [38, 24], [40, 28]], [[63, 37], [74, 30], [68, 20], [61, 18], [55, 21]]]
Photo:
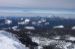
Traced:
[[22, 8], [67, 8], [74, 9], [74, 0], [0, 0], [0, 6]]

